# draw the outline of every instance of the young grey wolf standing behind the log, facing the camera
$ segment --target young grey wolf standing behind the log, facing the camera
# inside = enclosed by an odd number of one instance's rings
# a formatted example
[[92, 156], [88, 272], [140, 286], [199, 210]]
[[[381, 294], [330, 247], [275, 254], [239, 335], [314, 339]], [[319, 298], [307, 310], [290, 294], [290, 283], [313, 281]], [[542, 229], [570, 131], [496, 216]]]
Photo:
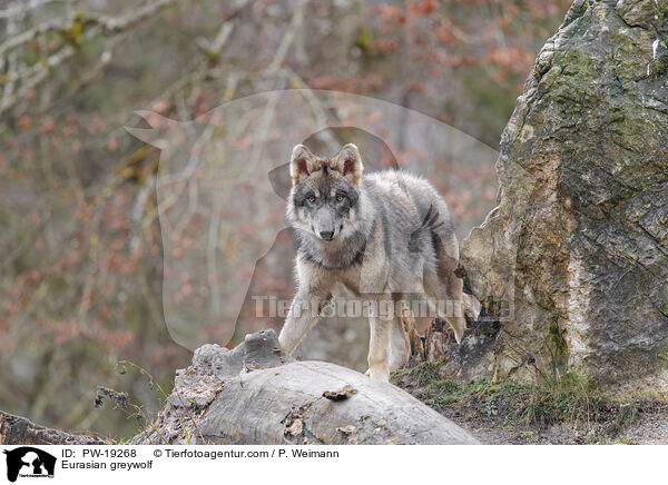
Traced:
[[[297, 290], [278, 336], [282, 347], [289, 354], [296, 349], [337, 285], [373, 303], [367, 370], [372, 379], [387, 382], [390, 372], [410, 356], [406, 330], [394, 311], [407, 295], [423, 295], [460, 343], [466, 321], [459, 244], [436, 189], [402, 170], [364, 174], [353, 143], [333, 158], [297, 145], [289, 170], [286, 220], [298, 244]], [[434, 308], [434, 301], [443, 300], [449, 311], [443, 305]]]

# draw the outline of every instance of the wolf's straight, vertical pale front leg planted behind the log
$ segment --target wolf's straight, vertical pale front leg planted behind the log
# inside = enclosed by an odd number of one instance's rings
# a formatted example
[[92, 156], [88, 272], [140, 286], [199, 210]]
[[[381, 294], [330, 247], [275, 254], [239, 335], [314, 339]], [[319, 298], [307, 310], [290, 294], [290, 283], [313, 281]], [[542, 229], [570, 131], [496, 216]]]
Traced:
[[392, 295], [381, 294], [376, 300], [377, 308], [369, 316], [371, 340], [369, 343], [369, 370], [372, 379], [390, 380], [390, 340], [394, 324], [394, 305]]

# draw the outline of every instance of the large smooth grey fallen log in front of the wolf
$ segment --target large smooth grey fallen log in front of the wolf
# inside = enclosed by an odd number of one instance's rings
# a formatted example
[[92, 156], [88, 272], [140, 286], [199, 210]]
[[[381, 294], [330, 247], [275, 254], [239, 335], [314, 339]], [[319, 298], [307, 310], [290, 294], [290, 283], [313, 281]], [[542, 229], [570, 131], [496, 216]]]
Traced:
[[274, 330], [247, 335], [233, 350], [195, 350], [157, 422], [132, 443], [478, 444], [399, 387], [294, 360]]

